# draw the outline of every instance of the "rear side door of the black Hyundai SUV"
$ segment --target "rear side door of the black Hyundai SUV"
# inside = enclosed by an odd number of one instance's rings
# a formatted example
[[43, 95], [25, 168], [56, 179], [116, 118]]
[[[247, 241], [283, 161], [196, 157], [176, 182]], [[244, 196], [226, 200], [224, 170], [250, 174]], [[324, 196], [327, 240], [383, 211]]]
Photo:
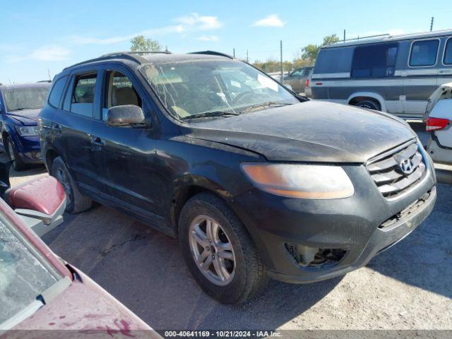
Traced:
[[100, 108], [98, 70], [83, 70], [71, 75], [63, 109], [58, 109], [49, 128], [54, 147], [63, 157], [82, 191], [97, 193], [105, 186], [100, 178], [100, 158], [93, 145], [93, 118]]

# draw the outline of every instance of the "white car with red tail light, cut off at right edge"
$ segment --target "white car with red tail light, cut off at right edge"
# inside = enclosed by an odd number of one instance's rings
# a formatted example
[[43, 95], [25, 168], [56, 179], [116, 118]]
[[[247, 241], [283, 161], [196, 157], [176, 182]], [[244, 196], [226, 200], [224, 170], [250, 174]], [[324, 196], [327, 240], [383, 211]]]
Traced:
[[441, 85], [429, 97], [424, 120], [431, 132], [427, 143], [430, 156], [434, 162], [452, 165], [452, 83]]

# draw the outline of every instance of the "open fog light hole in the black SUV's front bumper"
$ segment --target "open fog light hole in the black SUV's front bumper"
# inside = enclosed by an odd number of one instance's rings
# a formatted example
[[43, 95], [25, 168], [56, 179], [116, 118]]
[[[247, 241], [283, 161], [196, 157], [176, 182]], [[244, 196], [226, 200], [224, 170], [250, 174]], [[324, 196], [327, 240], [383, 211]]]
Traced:
[[297, 264], [303, 267], [319, 268], [326, 263], [336, 264], [347, 254], [347, 249], [319, 249], [290, 243], [285, 244], [285, 249], [295, 259]]

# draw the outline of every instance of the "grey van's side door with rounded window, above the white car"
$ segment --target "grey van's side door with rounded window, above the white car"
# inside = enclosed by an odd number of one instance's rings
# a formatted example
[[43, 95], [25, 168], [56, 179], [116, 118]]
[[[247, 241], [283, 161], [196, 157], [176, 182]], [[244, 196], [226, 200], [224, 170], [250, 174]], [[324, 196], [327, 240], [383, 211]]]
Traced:
[[403, 72], [403, 105], [408, 117], [421, 117], [436, 90], [440, 43], [438, 37], [411, 42], [408, 69]]

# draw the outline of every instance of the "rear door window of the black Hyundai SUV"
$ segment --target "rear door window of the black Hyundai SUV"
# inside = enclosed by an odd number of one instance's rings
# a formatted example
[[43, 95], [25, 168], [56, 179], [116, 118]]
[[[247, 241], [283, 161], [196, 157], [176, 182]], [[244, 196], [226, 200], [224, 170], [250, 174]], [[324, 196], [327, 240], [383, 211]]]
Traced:
[[93, 117], [97, 74], [78, 76], [71, 96], [71, 112]]

